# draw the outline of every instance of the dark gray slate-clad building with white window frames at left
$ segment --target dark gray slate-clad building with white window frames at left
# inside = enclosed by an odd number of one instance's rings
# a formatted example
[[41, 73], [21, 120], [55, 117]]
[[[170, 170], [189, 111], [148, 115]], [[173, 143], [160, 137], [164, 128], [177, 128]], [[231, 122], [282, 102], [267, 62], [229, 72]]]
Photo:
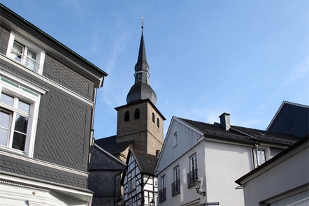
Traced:
[[107, 73], [0, 4], [0, 203], [91, 205], [96, 89]]

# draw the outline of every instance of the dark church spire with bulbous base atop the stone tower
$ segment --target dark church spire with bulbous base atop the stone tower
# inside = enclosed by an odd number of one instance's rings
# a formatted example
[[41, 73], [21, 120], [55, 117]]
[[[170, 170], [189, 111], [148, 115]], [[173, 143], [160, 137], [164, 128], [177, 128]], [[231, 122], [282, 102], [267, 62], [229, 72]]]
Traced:
[[149, 83], [150, 68], [146, 59], [146, 50], [143, 35], [144, 24], [143, 19], [141, 20], [142, 20], [141, 43], [138, 51], [137, 63], [134, 67], [135, 82], [127, 95], [127, 103], [129, 104], [134, 103], [136, 101], [149, 99], [155, 105], [155, 103], [157, 102], [157, 95], [155, 94], [155, 91], [152, 90]]

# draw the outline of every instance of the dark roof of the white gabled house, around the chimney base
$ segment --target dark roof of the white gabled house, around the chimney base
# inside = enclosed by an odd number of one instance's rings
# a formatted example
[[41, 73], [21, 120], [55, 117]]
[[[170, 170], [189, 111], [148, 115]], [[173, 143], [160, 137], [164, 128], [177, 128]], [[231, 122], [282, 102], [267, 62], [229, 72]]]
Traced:
[[221, 138], [236, 142], [269, 142], [282, 145], [293, 145], [299, 138], [293, 135], [273, 133], [254, 128], [245, 128], [241, 126], [232, 126], [226, 131], [220, 127], [219, 123], [208, 124], [190, 119], [179, 118], [191, 126], [203, 131], [205, 135], [212, 138]]

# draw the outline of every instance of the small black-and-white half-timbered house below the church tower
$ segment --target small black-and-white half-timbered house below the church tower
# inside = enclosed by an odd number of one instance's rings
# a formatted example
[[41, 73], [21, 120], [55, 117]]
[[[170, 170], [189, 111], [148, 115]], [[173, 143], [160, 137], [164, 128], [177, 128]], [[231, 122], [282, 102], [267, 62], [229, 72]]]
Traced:
[[127, 170], [122, 176], [124, 205], [150, 205], [157, 202], [158, 184], [154, 175], [157, 156], [129, 149]]

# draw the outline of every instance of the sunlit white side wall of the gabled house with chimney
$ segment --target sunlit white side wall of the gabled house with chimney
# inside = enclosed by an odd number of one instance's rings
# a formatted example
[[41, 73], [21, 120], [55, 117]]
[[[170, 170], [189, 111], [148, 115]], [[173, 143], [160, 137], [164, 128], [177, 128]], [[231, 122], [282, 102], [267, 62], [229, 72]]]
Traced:
[[210, 203], [244, 205], [243, 191], [234, 181], [252, 170], [251, 147], [204, 141], [206, 155], [206, 196]]

